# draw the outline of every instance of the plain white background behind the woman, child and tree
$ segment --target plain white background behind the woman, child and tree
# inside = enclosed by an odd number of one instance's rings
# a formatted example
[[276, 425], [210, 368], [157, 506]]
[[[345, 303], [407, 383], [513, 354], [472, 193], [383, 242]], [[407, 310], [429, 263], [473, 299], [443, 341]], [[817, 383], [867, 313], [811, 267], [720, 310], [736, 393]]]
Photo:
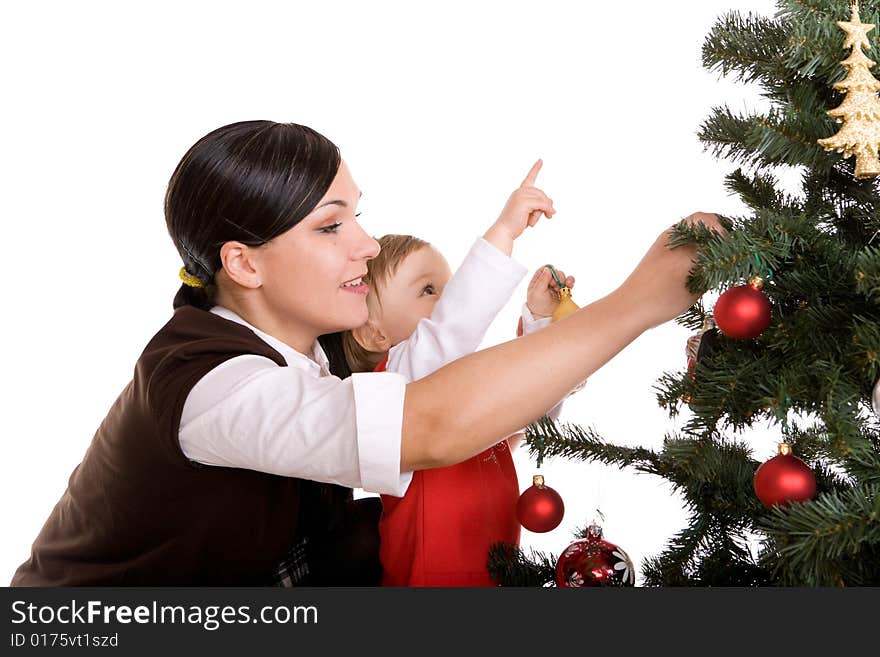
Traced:
[[[170, 315], [181, 263], [163, 193], [199, 137], [244, 119], [314, 127], [364, 190], [367, 230], [418, 235], [453, 267], [542, 157], [538, 184], [558, 214], [514, 256], [574, 274], [586, 305], [675, 220], [744, 212], [723, 188], [734, 166], [696, 138], [713, 105], [760, 106], [755, 89], [700, 63], [710, 26], [734, 8], [774, 11], [769, 0], [4, 4], [0, 582]], [[530, 276], [486, 345], [512, 337]], [[684, 368], [688, 335], [674, 323], [646, 333], [562, 419], [659, 448], [682, 420], [652, 388]], [[777, 435], [744, 438], [764, 460]], [[517, 468], [524, 489], [525, 452]], [[559, 553], [599, 507], [638, 567], [684, 526], [659, 478], [568, 461], [542, 471], [566, 516], [548, 534], [524, 531], [526, 547]]]

